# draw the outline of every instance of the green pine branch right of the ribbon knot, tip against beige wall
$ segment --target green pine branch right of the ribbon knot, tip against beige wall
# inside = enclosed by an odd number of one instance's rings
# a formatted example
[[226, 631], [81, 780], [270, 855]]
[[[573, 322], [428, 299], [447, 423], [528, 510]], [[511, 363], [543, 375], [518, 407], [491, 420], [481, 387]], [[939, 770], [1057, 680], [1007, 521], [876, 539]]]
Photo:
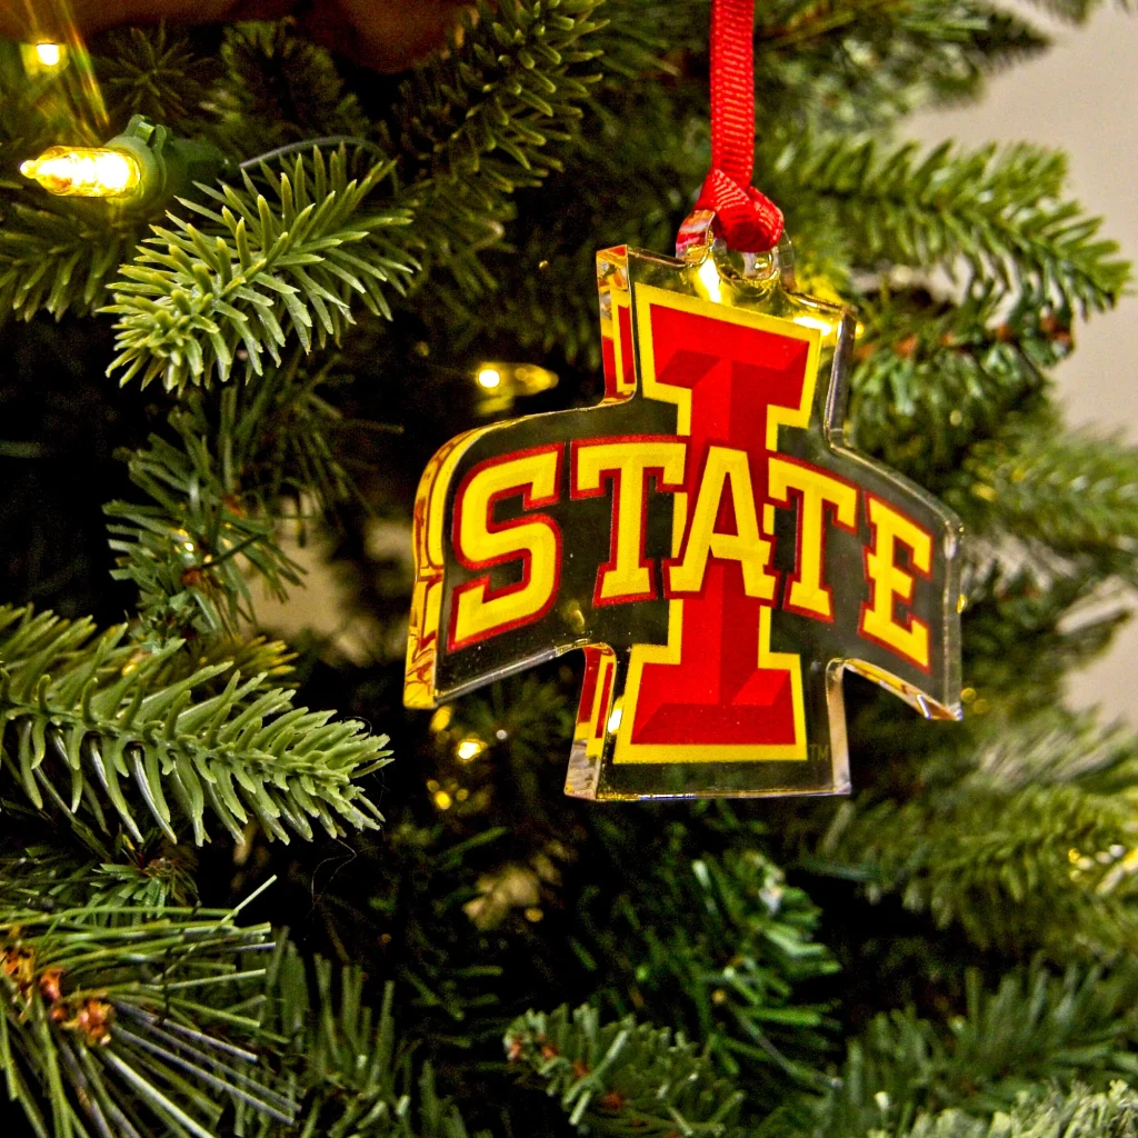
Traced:
[[865, 269], [909, 265], [967, 270], [986, 294], [1034, 307], [1112, 307], [1129, 265], [1100, 222], [1063, 197], [1066, 163], [1039, 147], [965, 151], [915, 143], [883, 151], [875, 141], [791, 143], [770, 179], [787, 199], [831, 204]]

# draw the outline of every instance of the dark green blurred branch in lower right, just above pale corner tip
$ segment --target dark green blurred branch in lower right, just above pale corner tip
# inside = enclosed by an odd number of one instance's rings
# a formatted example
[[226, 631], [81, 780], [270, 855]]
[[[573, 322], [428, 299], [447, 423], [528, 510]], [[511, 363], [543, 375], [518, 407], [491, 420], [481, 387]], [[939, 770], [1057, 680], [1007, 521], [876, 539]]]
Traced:
[[850, 1042], [841, 1082], [820, 1102], [813, 1132], [904, 1133], [920, 1113], [988, 1115], [1049, 1082], [1132, 1080], [1136, 984], [1132, 968], [1054, 976], [1033, 965], [986, 991], [970, 973], [965, 1007], [947, 1030], [910, 1011], [874, 1017]]

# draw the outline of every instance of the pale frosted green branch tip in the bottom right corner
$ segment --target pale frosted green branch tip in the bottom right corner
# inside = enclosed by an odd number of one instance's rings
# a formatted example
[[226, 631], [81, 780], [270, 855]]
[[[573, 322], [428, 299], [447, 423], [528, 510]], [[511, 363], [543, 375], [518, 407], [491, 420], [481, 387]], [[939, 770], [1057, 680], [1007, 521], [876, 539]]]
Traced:
[[1075, 1087], [1040, 1098], [1031, 1095], [983, 1122], [963, 1111], [917, 1119], [908, 1138], [1133, 1138], [1138, 1097], [1122, 1082], [1105, 1094]]

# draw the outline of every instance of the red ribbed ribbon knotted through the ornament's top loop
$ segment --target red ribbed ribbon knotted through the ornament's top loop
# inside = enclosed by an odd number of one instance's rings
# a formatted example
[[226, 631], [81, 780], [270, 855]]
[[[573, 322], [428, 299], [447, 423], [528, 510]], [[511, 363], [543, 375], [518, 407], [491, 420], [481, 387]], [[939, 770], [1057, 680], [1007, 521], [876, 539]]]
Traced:
[[714, 209], [740, 253], [766, 253], [783, 233], [778, 207], [751, 185], [754, 171], [754, 0], [711, 3], [711, 170], [696, 209]]

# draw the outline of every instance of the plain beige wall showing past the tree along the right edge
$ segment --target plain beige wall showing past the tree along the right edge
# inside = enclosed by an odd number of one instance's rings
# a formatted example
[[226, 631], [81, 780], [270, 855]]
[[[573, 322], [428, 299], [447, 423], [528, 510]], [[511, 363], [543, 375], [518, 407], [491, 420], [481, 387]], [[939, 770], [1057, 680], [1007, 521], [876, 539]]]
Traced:
[[[1041, 19], [1046, 6], [1009, 7], [1046, 25], [1052, 51], [997, 75], [978, 106], [907, 119], [908, 133], [927, 143], [1033, 141], [1065, 150], [1073, 195], [1106, 218], [1104, 232], [1124, 256], [1138, 259], [1138, 19], [1112, 5], [1070, 28]], [[1078, 325], [1075, 347], [1056, 371], [1071, 424], [1138, 443], [1138, 295]], [[1138, 724], [1136, 690], [1138, 620], [1107, 658], [1074, 676], [1070, 700]]]

